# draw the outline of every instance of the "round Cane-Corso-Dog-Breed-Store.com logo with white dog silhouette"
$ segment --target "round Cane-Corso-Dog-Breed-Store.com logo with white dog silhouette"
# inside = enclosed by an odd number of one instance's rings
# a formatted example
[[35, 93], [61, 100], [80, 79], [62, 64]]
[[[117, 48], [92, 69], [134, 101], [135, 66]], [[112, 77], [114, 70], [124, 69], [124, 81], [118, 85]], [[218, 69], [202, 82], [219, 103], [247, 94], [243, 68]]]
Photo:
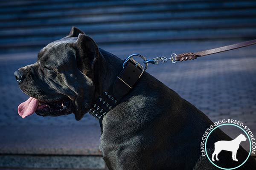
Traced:
[[[215, 130], [219, 128], [229, 126], [233, 134], [233, 140], [216, 140]], [[209, 142], [210, 141], [210, 142]], [[240, 156], [242, 148], [240, 145], [244, 145], [249, 150], [248, 155]], [[214, 149], [213, 149], [214, 148]], [[245, 126], [242, 122], [233, 119], [224, 119], [215, 122], [211, 125], [202, 137], [201, 142], [201, 154], [207, 156], [208, 160], [216, 167], [223, 170], [233, 170], [241, 167], [249, 158], [250, 154], [255, 154], [256, 142], [251, 130]], [[223, 161], [231, 161], [227, 167], [223, 167]], [[222, 163], [221, 163], [222, 162]], [[222, 165], [221, 165], [222, 164]], [[230, 165], [232, 164], [232, 165]]]

